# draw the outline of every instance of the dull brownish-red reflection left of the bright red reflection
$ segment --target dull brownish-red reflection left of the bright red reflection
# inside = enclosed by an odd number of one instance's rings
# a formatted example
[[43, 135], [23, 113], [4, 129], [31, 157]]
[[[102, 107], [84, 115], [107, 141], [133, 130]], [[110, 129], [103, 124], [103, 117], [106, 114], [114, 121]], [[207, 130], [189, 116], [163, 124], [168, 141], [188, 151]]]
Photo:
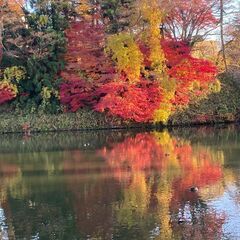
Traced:
[[[109, 181], [109, 166], [94, 154], [89, 158], [89, 154], [74, 150], [64, 153], [63, 169], [82, 237], [109, 239], [113, 227], [112, 203], [117, 201], [119, 191], [119, 183]], [[94, 178], [96, 174], [99, 175]]]

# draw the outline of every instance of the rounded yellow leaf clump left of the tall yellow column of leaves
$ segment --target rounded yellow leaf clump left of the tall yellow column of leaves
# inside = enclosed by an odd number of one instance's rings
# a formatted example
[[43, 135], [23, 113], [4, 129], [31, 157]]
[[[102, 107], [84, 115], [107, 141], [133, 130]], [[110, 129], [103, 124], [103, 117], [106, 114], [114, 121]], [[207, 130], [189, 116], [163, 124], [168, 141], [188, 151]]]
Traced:
[[112, 55], [118, 71], [123, 71], [131, 83], [139, 81], [143, 55], [130, 34], [120, 33], [110, 36], [106, 52]]

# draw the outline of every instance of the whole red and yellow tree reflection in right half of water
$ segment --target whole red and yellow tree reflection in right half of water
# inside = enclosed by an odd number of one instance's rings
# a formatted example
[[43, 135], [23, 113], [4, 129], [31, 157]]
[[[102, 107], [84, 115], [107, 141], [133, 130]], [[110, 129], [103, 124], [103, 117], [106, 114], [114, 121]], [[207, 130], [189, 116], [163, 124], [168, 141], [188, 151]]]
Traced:
[[[134, 138], [129, 137], [122, 143], [104, 148], [100, 154], [106, 158], [116, 179], [124, 182], [126, 176], [128, 179], [128, 187], [123, 192], [124, 200], [117, 208], [119, 224], [131, 229], [133, 219], [141, 219], [155, 209], [158, 227], [153, 232], [159, 239], [172, 239], [176, 234], [184, 236], [181, 231], [175, 231], [179, 228], [179, 217], [183, 218], [184, 227], [180, 226], [180, 229], [185, 229], [183, 232], [191, 232], [189, 226], [195, 226], [199, 232], [210, 233], [210, 228], [202, 227], [204, 221], [211, 223], [214, 233], [220, 232], [223, 218], [211, 212], [200, 196], [190, 192], [189, 188], [198, 186], [201, 189], [221, 179], [222, 154], [212, 153], [207, 148], [193, 149], [189, 142], [172, 138], [166, 131], [137, 134]], [[151, 174], [149, 177], [148, 170], [155, 170], [155, 177]], [[141, 179], [136, 181], [136, 177], [140, 176]], [[136, 206], [135, 211], [132, 211], [132, 205]], [[188, 208], [190, 225], [185, 220]], [[197, 236], [204, 239], [199, 232], [192, 232], [193, 239], [199, 239]]]

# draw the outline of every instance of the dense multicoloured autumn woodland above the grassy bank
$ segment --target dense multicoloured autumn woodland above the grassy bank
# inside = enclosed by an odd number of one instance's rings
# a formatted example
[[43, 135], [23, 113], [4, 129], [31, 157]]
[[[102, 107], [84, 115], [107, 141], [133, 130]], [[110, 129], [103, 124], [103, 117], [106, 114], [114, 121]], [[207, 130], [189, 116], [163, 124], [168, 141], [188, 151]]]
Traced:
[[[0, 7], [0, 104], [11, 111], [88, 108], [166, 123], [221, 91], [219, 74], [240, 67], [240, 17], [228, 1], [0, 0]], [[209, 40], [218, 33], [221, 41]]]

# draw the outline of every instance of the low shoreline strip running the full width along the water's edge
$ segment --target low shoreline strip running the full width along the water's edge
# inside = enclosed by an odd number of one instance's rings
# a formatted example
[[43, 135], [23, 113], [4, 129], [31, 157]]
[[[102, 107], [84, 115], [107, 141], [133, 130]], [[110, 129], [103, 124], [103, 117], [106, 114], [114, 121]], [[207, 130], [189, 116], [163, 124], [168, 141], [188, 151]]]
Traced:
[[[7, 116], [4, 118], [3, 116]], [[77, 132], [98, 130], [162, 130], [164, 128], [192, 128], [200, 126], [215, 126], [238, 124], [239, 119], [229, 120], [217, 118], [204, 121], [174, 121], [168, 124], [133, 123], [124, 122], [120, 119], [112, 119], [104, 114], [91, 110], [82, 110], [77, 113], [62, 114], [28, 114], [17, 115], [15, 113], [0, 114], [0, 134], [32, 134], [50, 132]]]

